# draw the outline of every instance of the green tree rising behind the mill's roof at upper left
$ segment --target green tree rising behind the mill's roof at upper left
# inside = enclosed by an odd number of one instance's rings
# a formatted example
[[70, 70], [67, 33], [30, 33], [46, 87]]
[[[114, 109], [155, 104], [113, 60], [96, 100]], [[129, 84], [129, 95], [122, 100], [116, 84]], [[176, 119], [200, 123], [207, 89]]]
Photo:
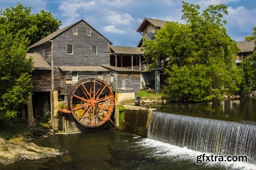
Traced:
[[8, 32], [24, 35], [31, 45], [47, 35], [57, 31], [61, 22], [55, 19], [50, 12], [41, 10], [32, 14], [30, 7], [17, 3], [16, 7], [0, 10], [0, 23], [6, 25]]

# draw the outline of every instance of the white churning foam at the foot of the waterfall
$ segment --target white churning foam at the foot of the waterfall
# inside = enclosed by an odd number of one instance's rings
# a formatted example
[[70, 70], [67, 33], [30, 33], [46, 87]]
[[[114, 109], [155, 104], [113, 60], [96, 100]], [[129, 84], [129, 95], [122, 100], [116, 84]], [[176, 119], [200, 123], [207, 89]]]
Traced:
[[[178, 159], [180, 160], [189, 160], [191, 162], [197, 161], [197, 156], [202, 155], [204, 153], [187, 149], [186, 147], [177, 147], [176, 145], [164, 143], [154, 139], [144, 138], [140, 142], [139, 145], [145, 148], [154, 149], [154, 153], [152, 157], [165, 157], [169, 159]], [[206, 153], [207, 156], [210, 156], [210, 153]], [[226, 159], [226, 157], [224, 157]], [[251, 170], [256, 169], [256, 164], [246, 163], [246, 162], [202, 162], [202, 164], [206, 166], [223, 166], [228, 169], [244, 169]]]

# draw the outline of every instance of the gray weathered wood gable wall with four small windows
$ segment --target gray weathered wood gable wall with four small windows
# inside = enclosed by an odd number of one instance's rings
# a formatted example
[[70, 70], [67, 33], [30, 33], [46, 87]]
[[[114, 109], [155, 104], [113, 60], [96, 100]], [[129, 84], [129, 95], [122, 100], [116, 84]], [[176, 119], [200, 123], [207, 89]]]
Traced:
[[[73, 35], [73, 28], [78, 35]], [[87, 36], [86, 23], [80, 22], [53, 40], [54, 65], [100, 66], [109, 64], [109, 41], [92, 29]], [[67, 44], [73, 44], [73, 54], [67, 54]], [[92, 55], [92, 45], [97, 45], [97, 55]]]

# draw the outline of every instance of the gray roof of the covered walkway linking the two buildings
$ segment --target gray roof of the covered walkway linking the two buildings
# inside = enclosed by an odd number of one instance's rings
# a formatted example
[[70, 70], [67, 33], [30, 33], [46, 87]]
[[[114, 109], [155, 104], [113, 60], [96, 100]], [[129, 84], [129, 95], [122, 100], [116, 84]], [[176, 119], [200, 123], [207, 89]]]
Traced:
[[130, 46], [110, 46], [112, 51], [116, 54], [143, 54], [141, 47], [130, 47]]

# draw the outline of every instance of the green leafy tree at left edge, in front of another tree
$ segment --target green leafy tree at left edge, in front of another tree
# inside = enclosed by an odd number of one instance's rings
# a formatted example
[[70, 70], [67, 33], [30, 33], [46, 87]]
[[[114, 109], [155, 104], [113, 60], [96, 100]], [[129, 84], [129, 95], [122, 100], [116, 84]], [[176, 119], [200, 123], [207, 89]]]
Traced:
[[28, 40], [21, 34], [8, 33], [0, 24], [0, 118], [14, 117], [27, 104], [32, 89], [32, 59], [26, 59]]

